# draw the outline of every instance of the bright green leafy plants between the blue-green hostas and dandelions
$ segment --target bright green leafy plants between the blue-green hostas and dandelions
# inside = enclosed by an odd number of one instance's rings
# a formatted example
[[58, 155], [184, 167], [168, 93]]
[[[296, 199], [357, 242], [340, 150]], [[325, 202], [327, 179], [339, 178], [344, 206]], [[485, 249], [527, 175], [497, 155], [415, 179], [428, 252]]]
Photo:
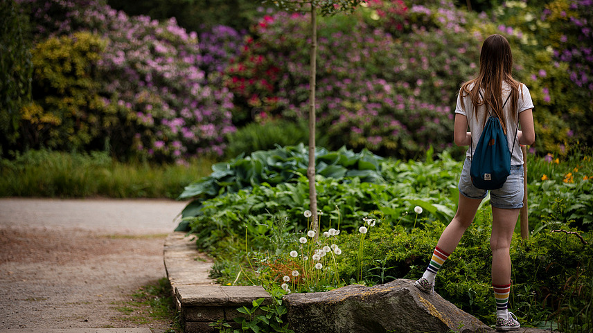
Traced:
[[[191, 216], [187, 220], [200, 247], [209, 249], [227, 237], [242, 237], [243, 232], [256, 242], [260, 239], [258, 235], [265, 238], [271, 230], [263, 226], [274, 217], [287, 217], [290, 221], [287, 230], [308, 228], [299, 222], [308, 206], [308, 181], [304, 176], [307, 150], [300, 147], [300, 153], [295, 154], [299, 152], [295, 148], [257, 152], [249, 159], [219, 163], [213, 166], [215, 172], [210, 177], [186, 188], [185, 195], [204, 194], [204, 199], [197, 201], [199, 204], [186, 208], [193, 213], [186, 216]], [[272, 161], [275, 162], [269, 163]], [[430, 219], [448, 221], [457, 203], [455, 174], [459, 168], [459, 163], [447, 154], [442, 154], [436, 163], [425, 164], [381, 162], [371, 154], [354, 154], [348, 150], [319, 152], [317, 203], [319, 210], [328, 216], [321, 217], [319, 224], [326, 228], [339, 216], [342, 228], [352, 229], [376, 210], [389, 221], [411, 227], [415, 218], [407, 212], [414, 206], [421, 206]], [[287, 179], [269, 182], [283, 175]], [[251, 185], [239, 188], [240, 177]], [[185, 195], [182, 198], [187, 198]]]

